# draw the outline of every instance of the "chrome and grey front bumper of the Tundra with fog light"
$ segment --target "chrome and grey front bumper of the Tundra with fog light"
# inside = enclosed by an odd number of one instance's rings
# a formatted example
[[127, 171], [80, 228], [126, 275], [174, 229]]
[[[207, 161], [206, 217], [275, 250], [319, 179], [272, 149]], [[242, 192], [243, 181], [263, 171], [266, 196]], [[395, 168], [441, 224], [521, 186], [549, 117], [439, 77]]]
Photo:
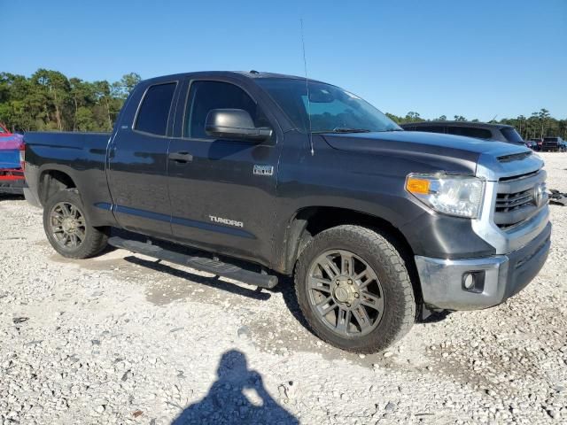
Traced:
[[[540, 272], [551, 245], [551, 223], [517, 251], [479, 259], [416, 256], [423, 303], [429, 308], [477, 310], [499, 305], [517, 294]], [[467, 290], [464, 276], [473, 274]]]

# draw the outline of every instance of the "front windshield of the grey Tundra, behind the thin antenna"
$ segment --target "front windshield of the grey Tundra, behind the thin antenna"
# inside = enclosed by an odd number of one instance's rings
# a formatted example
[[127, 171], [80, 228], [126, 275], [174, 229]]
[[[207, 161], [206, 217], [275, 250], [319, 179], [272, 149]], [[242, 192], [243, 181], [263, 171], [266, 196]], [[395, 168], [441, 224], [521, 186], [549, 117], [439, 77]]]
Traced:
[[307, 111], [314, 133], [358, 133], [400, 131], [401, 128], [374, 106], [346, 90], [309, 81], [309, 104], [305, 80], [287, 78], [258, 79], [258, 84], [303, 133], [309, 129]]

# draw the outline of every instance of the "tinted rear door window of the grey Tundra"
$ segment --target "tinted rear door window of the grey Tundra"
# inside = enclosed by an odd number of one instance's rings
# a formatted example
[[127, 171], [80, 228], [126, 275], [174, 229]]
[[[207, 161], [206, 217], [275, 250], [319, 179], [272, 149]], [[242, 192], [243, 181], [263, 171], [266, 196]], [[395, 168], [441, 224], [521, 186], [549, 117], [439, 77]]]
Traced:
[[175, 86], [175, 82], [168, 82], [147, 89], [134, 126], [137, 131], [152, 135], [166, 135]]

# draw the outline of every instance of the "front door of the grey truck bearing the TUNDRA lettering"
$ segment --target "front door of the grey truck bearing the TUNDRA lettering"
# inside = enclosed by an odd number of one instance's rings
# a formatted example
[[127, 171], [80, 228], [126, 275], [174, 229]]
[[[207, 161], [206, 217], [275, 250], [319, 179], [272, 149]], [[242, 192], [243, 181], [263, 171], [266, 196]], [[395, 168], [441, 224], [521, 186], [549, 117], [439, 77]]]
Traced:
[[[252, 94], [255, 86], [241, 84], [229, 78], [186, 81], [187, 96], [177, 108], [184, 113], [176, 114], [179, 136], [169, 150], [171, 225], [182, 242], [268, 263], [281, 132]], [[254, 143], [206, 135], [206, 115], [218, 108], [244, 109], [256, 127], [269, 126], [274, 136]]]

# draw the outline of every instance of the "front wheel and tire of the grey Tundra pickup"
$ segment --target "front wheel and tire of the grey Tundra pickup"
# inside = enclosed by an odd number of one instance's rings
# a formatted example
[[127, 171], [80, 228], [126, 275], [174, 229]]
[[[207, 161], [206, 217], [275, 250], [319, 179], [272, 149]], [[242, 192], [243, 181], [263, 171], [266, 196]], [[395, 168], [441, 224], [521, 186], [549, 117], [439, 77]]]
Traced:
[[[416, 321], [408, 267], [392, 243], [369, 228], [338, 226], [316, 235], [299, 255], [295, 288], [315, 335], [349, 352], [382, 351]], [[337, 306], [330, 310], [332, 303]]]

